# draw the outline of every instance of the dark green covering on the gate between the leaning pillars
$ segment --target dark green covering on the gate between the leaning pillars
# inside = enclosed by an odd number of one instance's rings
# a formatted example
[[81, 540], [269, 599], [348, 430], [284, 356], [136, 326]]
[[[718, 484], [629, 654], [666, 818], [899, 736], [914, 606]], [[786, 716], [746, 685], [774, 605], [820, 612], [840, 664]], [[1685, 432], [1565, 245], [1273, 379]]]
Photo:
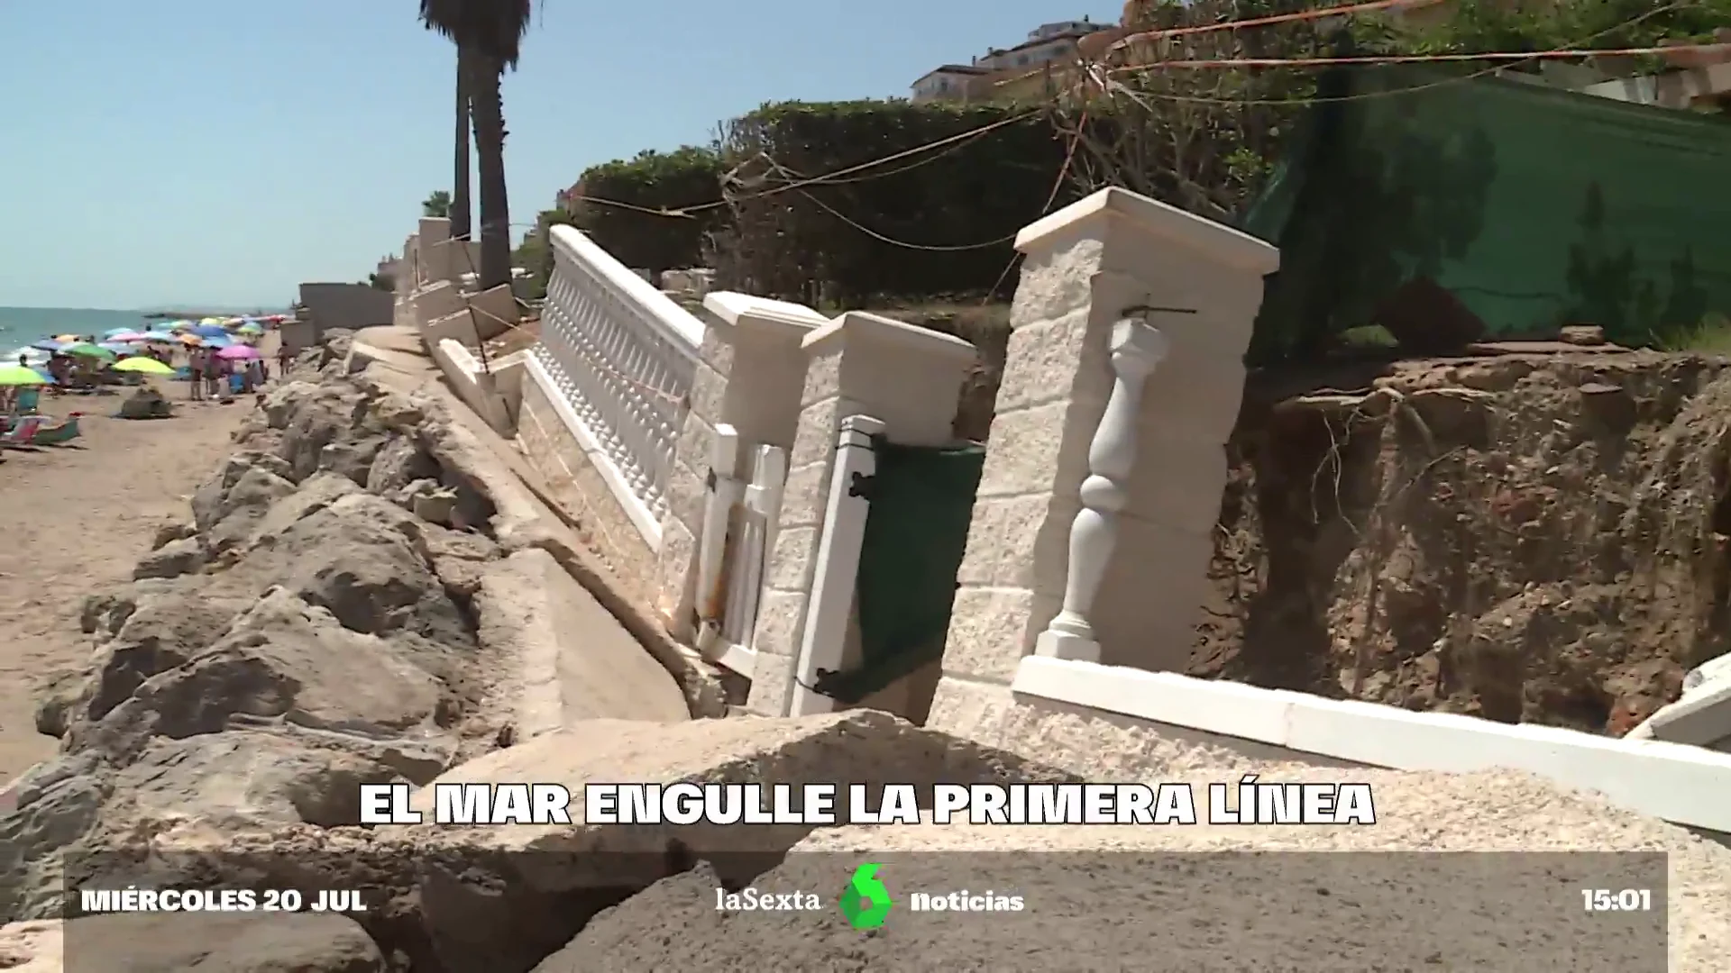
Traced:
[[878, 462], [853, 587], [860, 661], [814, 689], [857, 703], [943, 656], [956, 575], [968, 551], [985, 447], [905, 447], [872, 438]]

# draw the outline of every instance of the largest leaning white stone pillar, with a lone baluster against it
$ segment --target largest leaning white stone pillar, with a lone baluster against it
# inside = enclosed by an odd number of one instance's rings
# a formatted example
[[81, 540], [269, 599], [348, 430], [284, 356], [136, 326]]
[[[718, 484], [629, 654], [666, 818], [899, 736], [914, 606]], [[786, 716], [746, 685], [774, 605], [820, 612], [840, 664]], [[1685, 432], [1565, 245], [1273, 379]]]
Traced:
[[1245, 348], [1279, 267], [1267, 242], [1123, 189], [1028, 225], [1016, 249], [1004, 377], [928, 722], [969, 736], [1009, 705], [1030, 653], [1186, 665]]

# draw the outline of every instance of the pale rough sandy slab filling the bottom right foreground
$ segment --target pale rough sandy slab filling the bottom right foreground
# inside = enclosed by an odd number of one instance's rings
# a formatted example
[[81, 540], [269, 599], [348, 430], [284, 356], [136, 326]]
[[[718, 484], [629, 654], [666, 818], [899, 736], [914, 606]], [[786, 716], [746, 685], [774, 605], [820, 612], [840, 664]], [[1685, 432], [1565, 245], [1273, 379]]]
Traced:
[[[826, 828], [748, 883], [708, 864], [670, 878], [535, 971], [1612, 973], [1665, 968], [1658, 899], [1669, 968], [1724, 968], [1719, 843], [1523, 774], [1355, 774], [1380, 795], [1376, 826]], [[866, 862], [891, 900], [871, 931], [840, 911]], [[717, 911], [724, 885], [812, 892], [820, 907]], [[1582, 888], [1648, 888], [1653, 909], [1591, 912]], [[966, 892], [981, 911], [916, 911], [917, 892]]]

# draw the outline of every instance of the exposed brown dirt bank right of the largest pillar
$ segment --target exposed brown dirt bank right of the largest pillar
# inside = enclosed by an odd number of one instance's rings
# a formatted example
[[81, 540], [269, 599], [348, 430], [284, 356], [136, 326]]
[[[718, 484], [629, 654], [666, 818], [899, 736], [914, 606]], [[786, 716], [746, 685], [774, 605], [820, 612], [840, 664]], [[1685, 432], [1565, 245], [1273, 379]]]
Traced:
[[1728, 646], [1724, 367], [1553, 346], [1260, 376], [1191, 673], [1627, 732]]

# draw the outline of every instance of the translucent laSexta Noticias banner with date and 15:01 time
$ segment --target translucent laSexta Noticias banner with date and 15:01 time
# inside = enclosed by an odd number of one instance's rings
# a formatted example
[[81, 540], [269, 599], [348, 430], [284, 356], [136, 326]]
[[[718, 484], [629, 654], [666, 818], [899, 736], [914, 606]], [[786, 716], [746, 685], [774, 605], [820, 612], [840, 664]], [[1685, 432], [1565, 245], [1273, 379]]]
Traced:
[[[244, 885], [187, 881], [223, 871], [208, 857], [196, 873], [171, 859], [81, 862], [68, 869], [80, 876], [68, 880], [68, 914], [80, 918], [66, 926], [64, 970], [241, 961], [228, 952], [317, 950], [332, 937], [353, 947], [357, 931], [402, 949], [389, 940], [410, 926], [415, 949], [440, 954], [436, 968], [448, 973], [497, 973], [505, 954], [528, 970], [561, 947], [606, 956], [608, 970], [672, 959], [685, 970], [874, 973], [1667, 970], [1663, 854], [694, 854], [696, 864], [488, 855], [467, 871], [447, 867], [457, 885], [445, 880], [436, 895], [412, 888], [424, 874], [389, 886], [310, 883], [344, 869], [305, 859], [280, 869], [249, 859], [235, 871]], [[660, 878], [668, 869], [682, 871]], [[511, 921], [500, 895], [514, 900]], [[325, 968], [312, 952], [286, 959]]]

